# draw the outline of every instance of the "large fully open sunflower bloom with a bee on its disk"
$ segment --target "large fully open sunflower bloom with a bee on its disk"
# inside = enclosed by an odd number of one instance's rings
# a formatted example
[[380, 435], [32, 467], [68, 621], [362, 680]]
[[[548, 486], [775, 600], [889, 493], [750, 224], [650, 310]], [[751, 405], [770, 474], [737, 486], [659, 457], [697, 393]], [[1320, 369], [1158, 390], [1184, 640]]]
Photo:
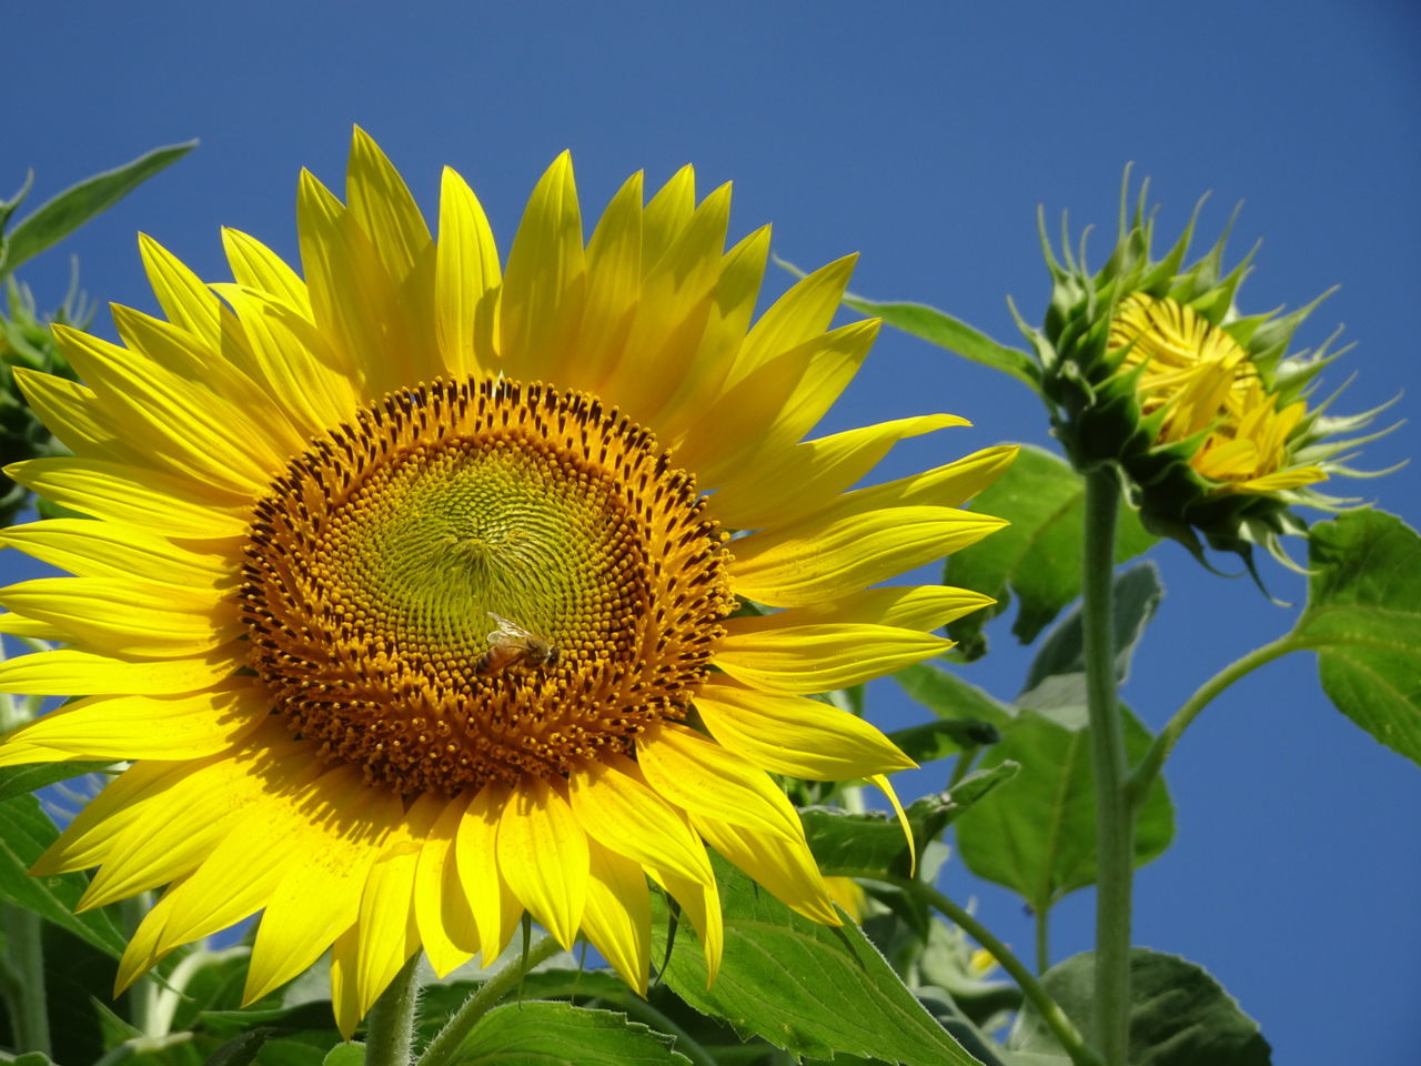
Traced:
[[57, 327], [82, 385], [20, 372], [74, 456], [10, 473], [98, 520], [0, 534], [75, 574], [0, 591], [0, 628], [68, 645], [0, 687], [84, 696], [0, 765], [134, 760], [37, 873], [99, 866], [85, 907], [168, 885], [121, 988], [264, 911], [244, 999], [331, 948], [345, 1033], [421, 947], [489, 961], [524, 911], [645, 991], [648, 878], [713, 976], [705, 844], [838, 922], [770, 775], [911, 766], [807, 694], [985, 603], [871, 586], [996, 529], [956, 507], [1012, 449], [848, 492], [962, 419], [801, 441], [877, 330], [828, 328], [853, 260], [752, 327], [769, 232], [726, 252], [689, 168], [584, 246], [558, 158], [506, 267], [452, 171], [438, 240], [360, 131], [347, 193], [301, 175], [304, 281], [242, 233], [210, 287], [144, 239], [166, 321]]

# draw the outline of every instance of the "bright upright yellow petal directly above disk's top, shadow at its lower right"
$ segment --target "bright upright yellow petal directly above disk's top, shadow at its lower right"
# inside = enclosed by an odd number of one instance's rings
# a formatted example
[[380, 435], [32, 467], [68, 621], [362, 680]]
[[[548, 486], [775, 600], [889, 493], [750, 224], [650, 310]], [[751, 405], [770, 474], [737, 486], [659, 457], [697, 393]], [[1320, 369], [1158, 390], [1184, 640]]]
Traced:
[[453, 377], [495, 365], [502, 273], [493, 230], [468, 182], [448, 166], [439, 186], [435, 314], [439, 351]]

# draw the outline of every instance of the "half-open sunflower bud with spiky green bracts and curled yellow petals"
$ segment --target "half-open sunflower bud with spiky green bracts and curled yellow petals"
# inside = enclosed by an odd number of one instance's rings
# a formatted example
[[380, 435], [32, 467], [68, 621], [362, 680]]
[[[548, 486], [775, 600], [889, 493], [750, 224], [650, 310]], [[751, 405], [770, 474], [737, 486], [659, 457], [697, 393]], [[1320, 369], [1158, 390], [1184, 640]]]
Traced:
[[1339, 438], [1381, 408], [1333, 418], [1324, 415], [1330, 398], [1313, 402], [1313, 379], [1341, 354], [1327, 351], [1336, 334], [1316, 351], [1287, 354], [1323, 297], [1289, 314], [1241, 314], [1235, 296], [1253, 252], [1225, 271], [1225, 229], [1187, 263], [1195, 209], [1155, 260], [1148, 183], [1131, 213], [1125, 179], [1120, 236], [1097, 273], [1086, 267], [1084, 242], [1071, 252], [1064, 225], [1060, 257], [1042, 226], [1052, 300], [1040, 330], [1019, 324], [1042, 361], [1054, 432], [1077, 469], [1114, 465], [1145, 526], [1201, 561], [1208, 544], [1252, 570], [1262, 546], [1297, 569], [1282, 549], [1283, 534], [1307, 529], [1292, 507], [1354, 503], [1314, 486], [1366, 476], [1339, 453], [1373, 438]]

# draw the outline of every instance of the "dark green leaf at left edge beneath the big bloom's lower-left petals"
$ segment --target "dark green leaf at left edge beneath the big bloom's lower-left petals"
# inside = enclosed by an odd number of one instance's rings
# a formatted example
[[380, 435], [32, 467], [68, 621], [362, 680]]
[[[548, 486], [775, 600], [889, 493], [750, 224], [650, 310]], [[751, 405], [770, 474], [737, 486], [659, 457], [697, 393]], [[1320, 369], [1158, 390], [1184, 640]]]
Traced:
[[60, 836], [34, 796], [0, 800], [0, 900], [34, 911], [99, 951], [118, 958], [124, 937], [102, 910], [74, 914], [88, 878], [84, 874], [30, 877], [34, 860]]

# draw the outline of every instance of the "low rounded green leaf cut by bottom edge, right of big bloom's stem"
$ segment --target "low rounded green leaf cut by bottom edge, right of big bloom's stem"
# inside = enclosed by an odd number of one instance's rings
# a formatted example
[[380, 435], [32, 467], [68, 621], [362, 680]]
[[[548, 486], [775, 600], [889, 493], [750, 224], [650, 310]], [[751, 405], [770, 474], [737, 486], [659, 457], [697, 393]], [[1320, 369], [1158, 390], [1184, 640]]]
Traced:
[[465, 1039], [458, 1066], [688, 1066], [674, 1038], [612, 1011], [524, 1001], [489, 1011]]

